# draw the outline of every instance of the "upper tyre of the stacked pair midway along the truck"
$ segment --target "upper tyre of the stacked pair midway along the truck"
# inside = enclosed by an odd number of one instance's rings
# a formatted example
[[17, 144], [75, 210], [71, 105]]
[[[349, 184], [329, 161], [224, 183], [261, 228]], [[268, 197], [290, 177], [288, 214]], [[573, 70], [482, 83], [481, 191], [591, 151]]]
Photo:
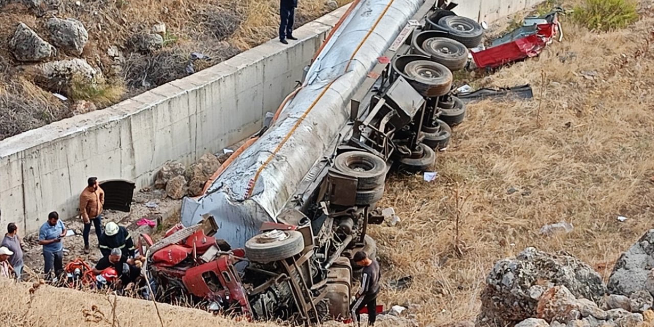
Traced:
[[349, 151], [336, 156], [334, 167], [341, 173], [358, 179], [358, 190], [373, 190], [384, 185], [386, 162], [364, 151]]

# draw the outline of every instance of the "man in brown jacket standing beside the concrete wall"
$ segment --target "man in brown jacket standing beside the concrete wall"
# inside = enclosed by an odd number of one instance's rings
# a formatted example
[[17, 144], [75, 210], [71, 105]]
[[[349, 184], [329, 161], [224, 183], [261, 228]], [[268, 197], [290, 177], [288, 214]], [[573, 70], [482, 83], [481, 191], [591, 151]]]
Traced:
[[88, 186], [80, 194], [80, 216], [84, 222], [84, 253], [88, 254], [88, 235], [91, 233], [91, 222], [95, 227], [95, 235], [102, 235], [102, 207], [105, 205], [105, 191], [97, 184], [97, 177], [88, 179]]

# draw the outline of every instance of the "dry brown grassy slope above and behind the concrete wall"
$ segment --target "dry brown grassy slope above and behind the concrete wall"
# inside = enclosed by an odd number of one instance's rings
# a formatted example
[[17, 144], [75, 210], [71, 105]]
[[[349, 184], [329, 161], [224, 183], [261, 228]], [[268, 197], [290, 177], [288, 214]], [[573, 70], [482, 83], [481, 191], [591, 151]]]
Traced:
[[[339, 5], [347, 2], [337, 1]], [[92, 89], [78, 87], [71, 96], [71, 103], [89, 100], [99, 109], [188, 75], [186, 65], [192, 52], [212, 58], [211, 61], [196, 62], [194, 69], [197, 72], [275, 37], [279, 24], [279, 0], [45, 0], [43, 4], [38, 9], [29, 8], [20, 1], [0, 5], [0, 80], [23, 76], [21, 66], [31, 65], [15, 61], [9, 51], [9, 39], [18, 22], [24, 22], [47, 41], [48, 32], [44, 27], [47, 18], [52, 15], [77, 18], [89, 33], [82, 57], [101, 69], [110, 82]], [[296, 12], [296, 26], [329, 10], [324, 0], [303, 0]], [[130, 52], [128, 40], [132, 35], [150, 32], [152, 26], [162, 22], [167, 29], [162, 49], [152, 54]], [[124, 60], [109, 58], [107, 50], [112, 46], [122, 50]], [[67, 58], [60, 51], [52, 60]], [[117, 70], [117, 65], [122, 69]], [[0, 115], [3, 118], [11, 116], [7, 118], [7, 124], [0, 126], [0, 139], [72, 114], [70, 110], [59, 116], [43, 114], [53, 110], [35, 101], [35, 97], [41, 97], [43, 93], [35, 85], [29, 88], [35, 90], [31, 94], [12, 80], [0, 83], [4, 90]], [[22, 91], [14, 92], [18, 89]], [[62, 103], [58, 106], [61, 107]], [[20, 109], [12, 109], [16, 107]]]

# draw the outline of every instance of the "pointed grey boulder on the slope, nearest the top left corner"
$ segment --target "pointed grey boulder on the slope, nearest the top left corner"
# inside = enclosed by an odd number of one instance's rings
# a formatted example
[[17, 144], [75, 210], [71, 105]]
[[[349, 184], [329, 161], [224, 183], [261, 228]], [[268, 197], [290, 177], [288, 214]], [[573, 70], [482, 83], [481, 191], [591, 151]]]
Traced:
[[23, 23], [16, 27], [14, 36], [9, 40], [9, 48], [18, 61], [41, 61], [57, 53], [54, 46]]

